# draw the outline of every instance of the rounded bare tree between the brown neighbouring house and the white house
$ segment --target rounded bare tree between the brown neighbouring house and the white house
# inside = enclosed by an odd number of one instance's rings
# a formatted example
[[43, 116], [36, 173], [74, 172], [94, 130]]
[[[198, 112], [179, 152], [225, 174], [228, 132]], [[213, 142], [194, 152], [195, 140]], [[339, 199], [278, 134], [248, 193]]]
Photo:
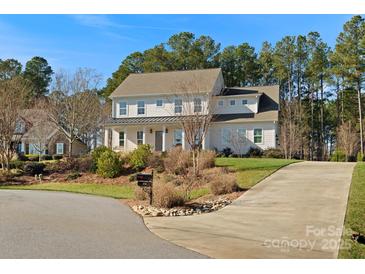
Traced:
[[100, 129], [102, 104], [96, 92], [100, 79], [88, 68], [80, 68], [74, 74], [60, 71], [55, 76], [49, 119], [67, 138], [70, 157], [76, 140], [85, 141]]

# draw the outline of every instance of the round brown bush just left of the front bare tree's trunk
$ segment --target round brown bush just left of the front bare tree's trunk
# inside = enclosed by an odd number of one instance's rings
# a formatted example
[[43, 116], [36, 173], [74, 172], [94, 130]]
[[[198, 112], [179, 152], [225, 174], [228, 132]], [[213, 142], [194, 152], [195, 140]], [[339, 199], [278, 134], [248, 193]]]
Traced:
[[183, 150], [181, 147], [170, 149], [164, 159], [164, 166], [170, 174], [187, 174], [189, 167], [192, 166], [190, 152]]

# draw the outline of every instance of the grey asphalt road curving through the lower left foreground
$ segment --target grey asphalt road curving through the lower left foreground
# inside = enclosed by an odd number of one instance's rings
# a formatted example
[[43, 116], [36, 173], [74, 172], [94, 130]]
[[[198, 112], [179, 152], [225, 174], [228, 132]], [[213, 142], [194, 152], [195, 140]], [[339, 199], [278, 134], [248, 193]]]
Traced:
[[0, 190], [0, 258], [206, 257], [155, 236], [115, 199]]

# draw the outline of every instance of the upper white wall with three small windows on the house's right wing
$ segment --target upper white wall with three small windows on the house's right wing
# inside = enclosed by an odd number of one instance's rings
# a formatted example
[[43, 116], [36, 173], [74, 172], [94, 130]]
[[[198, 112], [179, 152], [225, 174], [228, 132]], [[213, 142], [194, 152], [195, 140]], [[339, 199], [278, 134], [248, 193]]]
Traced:
[[[257, 113], [258, 99], [256, 96], [218, 96], [215, 98], [214, 112], [217, 114]], [[231, 100], [236, 101], [234, 106], [230, 105]], [[243, 105], [242, 100], [247, 100], [247, 104]], [[223, 101], [223, 106], [218, 105], [219, 101]]]

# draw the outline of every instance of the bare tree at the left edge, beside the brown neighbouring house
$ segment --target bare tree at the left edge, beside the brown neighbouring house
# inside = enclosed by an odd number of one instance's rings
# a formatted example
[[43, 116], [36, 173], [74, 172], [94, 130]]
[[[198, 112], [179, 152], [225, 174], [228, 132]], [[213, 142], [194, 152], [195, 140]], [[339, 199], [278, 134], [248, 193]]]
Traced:
[[10, 160], [26, 130], [21, 112], [31, 85], [20, 77], [0, 81], [0, 163], [10, 169]]

